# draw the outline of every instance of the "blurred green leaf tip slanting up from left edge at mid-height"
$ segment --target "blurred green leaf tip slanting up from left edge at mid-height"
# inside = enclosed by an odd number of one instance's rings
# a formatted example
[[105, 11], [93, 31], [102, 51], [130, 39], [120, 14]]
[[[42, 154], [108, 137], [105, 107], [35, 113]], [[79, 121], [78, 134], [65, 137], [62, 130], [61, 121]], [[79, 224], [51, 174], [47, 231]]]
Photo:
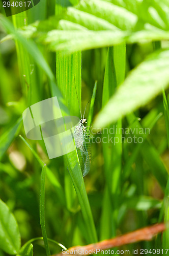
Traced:
[[8, 147], [11, 145], [14, 138], [18, 135], [21, 127], [22, 118], [20, 117], [17, 122], [7, 130], [0, 138], [0, 160], [3, 158], [3, 155], [8, 150]]

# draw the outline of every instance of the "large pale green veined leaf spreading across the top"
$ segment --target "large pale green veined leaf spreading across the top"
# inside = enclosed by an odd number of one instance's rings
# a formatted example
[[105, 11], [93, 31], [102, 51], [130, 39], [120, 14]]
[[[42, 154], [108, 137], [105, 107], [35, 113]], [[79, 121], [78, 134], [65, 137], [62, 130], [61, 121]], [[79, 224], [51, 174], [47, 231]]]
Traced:
[[[64, 8], [57, 17], [24, 27], [25, 37], [36, 37], [51, 51], [65, 53], [140, 40], [169, 38], [169, 4], [157, 1], [126, 2], [83, 0]], [[73, 30], [73, 33], [72, 33]], [[9, 36], [2, 41], [9, 39]]]

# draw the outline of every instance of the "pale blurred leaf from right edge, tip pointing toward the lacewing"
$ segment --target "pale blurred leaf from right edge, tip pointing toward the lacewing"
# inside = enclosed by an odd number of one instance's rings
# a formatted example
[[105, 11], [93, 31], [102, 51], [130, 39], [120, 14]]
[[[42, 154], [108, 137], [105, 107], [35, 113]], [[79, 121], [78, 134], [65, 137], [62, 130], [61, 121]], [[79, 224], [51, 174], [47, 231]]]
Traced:
[[116, 94], [98, 114], [94, 126], [105, 127], [157, 96], [168, 86], [168, 68], [169, 50], [158, 51], [149, 56], [130, 72]]

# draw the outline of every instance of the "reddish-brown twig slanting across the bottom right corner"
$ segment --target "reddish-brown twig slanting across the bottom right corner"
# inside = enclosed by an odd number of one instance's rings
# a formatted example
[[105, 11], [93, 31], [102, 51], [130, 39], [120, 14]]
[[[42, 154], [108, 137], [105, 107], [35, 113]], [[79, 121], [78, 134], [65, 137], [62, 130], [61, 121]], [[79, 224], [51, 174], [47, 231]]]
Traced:
[[[75, 246], [75, 247], [69, 248], [68, 250], [70, 254], [78, 254], [78, 251], [80, 250], [81, 252], [83, 252], [80, 254], [89, 255], [91, 254], [91, 251], [96, 249], [106, 250], [112, 247], [122, 246], [125, 244], [151, 240], [156, 234], [163, 232], [165, 229], [166, 229], [166, 226], [164, 223], [155, 224], [153, 226], [144, 227], [144, 228], [135, 230], [133, 232], [123, 234], [122, 236], [119, 236], [116, 238], [104, 240], [104, 241], [101, 241], [95, 244], [89, 244], [86, 246]], [[66, 253], [66, 255], [68, 254]], [[52, 256], [63, 256], [63, 255], [64, 254], [60, 252]]]

